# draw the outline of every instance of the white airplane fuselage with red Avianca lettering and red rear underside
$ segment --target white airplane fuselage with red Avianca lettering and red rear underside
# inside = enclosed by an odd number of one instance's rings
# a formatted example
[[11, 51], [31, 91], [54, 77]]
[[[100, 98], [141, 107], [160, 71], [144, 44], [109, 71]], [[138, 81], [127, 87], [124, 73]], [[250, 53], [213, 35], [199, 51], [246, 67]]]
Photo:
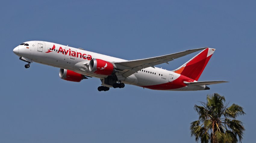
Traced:
[[[29, 46], [19, 45], [18, 53], [19, 57], [25, 57], [32, 60], [32, 62], [41, 63], [49, 66], [58, 67], [61, 69], [72, 70], [74, 72], [97, 78], [106, 78], [106, 75], [95, 74], [89, 71], [86, 67], [91, 59], [101, 59], [108, 62], [126, 61], [120, 58], [111, 57], [103, 54], [98, 54], [83, 49], [73, 48], [65, 45], [60, 45], [52, 42], [44, 41], [29, 41], [26, 42]], [[53, 45], [55, 45], [54, 50]], [[59, 51], [59, 49], [63, 49]], [[51, 50], [50, 50], [51, 49]], [[66, 53], [64, 52], [66, 51]], [[76, 54], [76, 56], [71, 56]], [[181, 75], [175, 72], [171, 72], [165, 69], [148, 67], [134, 73], [131, 76], [121, 80], [123, 83], [132, 84], [136, 86], [142, 86], [150, 89], [159, 90], [204, 90], [204, 86], [187, 86], [183, 83], [173, 82]], [[192, 80], [192, 79], [191, 79]], [[190, 79], [186, 79], [188, 82], [193, 82]], [[168, 86], [173, 84], [175, 88], [164, 88], [164, 84], [168, 83]], [[174, 85], [175, 84], [175, 85]], [[176, 85], [178, 84], [178, 85]], [[162, 85], [152, 88], [154, 85]], [[152, 86], [152, 87], [151, 87]], [[166, 85], [167, 86], [167, 85]]]

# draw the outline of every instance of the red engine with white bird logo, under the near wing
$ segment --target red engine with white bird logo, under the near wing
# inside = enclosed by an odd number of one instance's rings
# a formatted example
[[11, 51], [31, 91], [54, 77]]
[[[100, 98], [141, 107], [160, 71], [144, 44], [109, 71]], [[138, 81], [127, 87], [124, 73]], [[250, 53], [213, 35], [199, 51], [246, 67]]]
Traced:
[[95, 74], [111, 75], [114, 71], [114, 66], [101, 59], [92, 59], [89, 63], [89, 71]]

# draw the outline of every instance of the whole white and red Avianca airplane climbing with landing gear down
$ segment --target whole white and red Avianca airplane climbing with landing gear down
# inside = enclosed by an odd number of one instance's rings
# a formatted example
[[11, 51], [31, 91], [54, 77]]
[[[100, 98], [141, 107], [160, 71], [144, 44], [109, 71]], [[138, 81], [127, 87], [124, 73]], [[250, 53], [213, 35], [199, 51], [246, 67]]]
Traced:
[[[155, 67], [200, 50], [203, 51], [173, 71]], [[123, 60], [45, 41], [28, 41], [13, 49], [20, 60], [28, 63], [25, 68], [33, 62], [58, 67], [60, 78], [73, 82], [99, 78], [98, 91], [124, 88], [125, 84], [166, 91], [208, 90], [207, 85], [227, 82], [198, 81], [214, 51], [214, 48], [205, 47], [140, 60]]]

